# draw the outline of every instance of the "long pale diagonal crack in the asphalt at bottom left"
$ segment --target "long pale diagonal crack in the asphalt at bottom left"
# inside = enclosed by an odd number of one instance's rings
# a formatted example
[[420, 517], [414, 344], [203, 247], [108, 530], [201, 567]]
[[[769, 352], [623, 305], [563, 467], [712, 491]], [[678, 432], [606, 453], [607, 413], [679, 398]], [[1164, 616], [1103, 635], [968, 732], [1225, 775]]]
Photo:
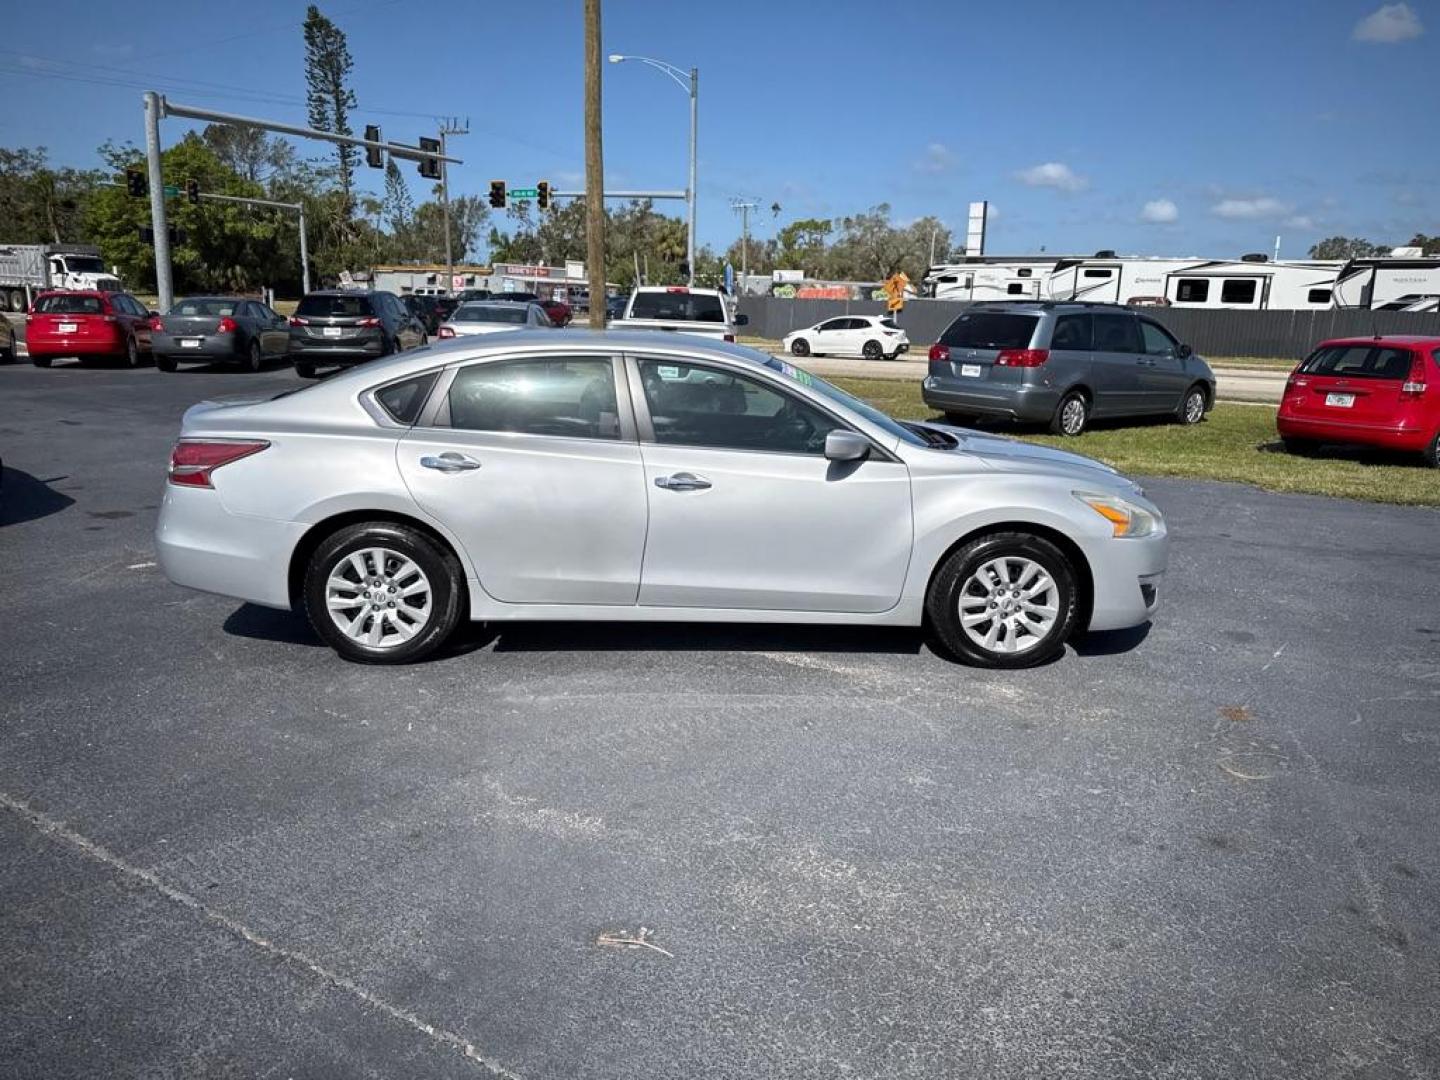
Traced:
[[423, 1020], [422, 1017], [416, 1015], [415, 1012], [410, 1012], [409, 1009], [402, 1008], [400, 1005], [386, 1001], [374, 991], [366, 989], [354, 979], [350, 979], [341, 975], [340, 972], [331, 971], [323, 963], [312, 960], [311, 958], [305, 956], [305, 953], [297, 952], [294, 949], [287, 949], [284, 945], [278, 945], [269, 940], [268, 937], [265, 937], [261, 933], [256, 933], [238, 919], [232, 919], [223, 912], [217, 912], [213, 907], [209, 907], [197, 897], [192, 896], [190, 893], [186, 893], [183, 888], [176, 888], [174, 886], [167, 884], [154, 871], [128, 863], [127, 860], [121, 858], [114, 851], [107, 848], [104, 844], [99, 844], [91, 840], [89, 837], [76, 832], [63, 821], [52, 818], [49, 814], [36, 809], [27, 801], [16, 798], [9, 792], [0, 791], [0, 806], [4, 806], [12, 814], [26, 821], [42, 835], [49, 837], [50, 840], [55, 840], [79, 851], [86, 858], [91, 858], [95, 863], [101, 863], [102, 865], [109, 867], [111, 870], [114, 870], [115, 873], [118, 873], [125, 878], [140, 883], [145, 888], [158, 893], [170, 903], [200, 914], [203, 919], [206, 919], [206, 922], [213, 923], [226, 933], [230, 933], [232, 936], [239, 937], [240, 940], [248, 942], [249, 945], [253, 945], [272, 959], [284, 960], [292, 968], [298, 968], [300, 971], [304, 971], [305, 973], [320, 979], [321, 982], [325, 982], [338, 991], [344, 991], [346, 994], [348, 994], [353, 998], [357, 998], [370, 1008], [377, 1009], [384, 1015], [390, 1017], [392, 1020], [396, 1020], [400, 1024], [415, 1031], [419, 1031], [422, 1035], [426, 1035], [432, 1041], [439, 1043], [441, 1045], [459, 1053], [467, 1060], [474, 1061], [475, 1064], [487, 1068], [491, 1076], [501, 1077], [501, 1080], [521, 1080], [520, 1076], [505, 1068], [503, 1064], [500, 1064], [500, 1061], [480, 1051], [475, 1047], [475, 1044], [467, 1040], [464, 1035], [459, 1035], [446, 1028], [436, 1027]]

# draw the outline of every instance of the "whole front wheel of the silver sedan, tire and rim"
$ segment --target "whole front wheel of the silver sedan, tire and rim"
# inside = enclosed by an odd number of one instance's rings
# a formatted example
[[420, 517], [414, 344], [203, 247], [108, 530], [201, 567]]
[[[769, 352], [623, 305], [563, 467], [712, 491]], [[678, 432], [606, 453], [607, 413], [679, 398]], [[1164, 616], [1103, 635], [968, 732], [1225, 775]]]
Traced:
[[1074, 566], [1050, 540], [992, 533], [946, 557], [924, 606], [950, 655], [981, 667], [1024, 668], [1064, 649], [1077, 596]]

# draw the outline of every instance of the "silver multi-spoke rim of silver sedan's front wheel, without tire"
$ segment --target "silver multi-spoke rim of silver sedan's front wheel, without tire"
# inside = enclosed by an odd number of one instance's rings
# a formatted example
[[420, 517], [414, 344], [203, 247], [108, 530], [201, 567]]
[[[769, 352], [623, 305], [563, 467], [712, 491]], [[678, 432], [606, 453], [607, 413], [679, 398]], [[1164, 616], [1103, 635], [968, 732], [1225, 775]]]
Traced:
[[1024, 556], [981, 563], [958, 602], [960, 629], [986, 652], [1030, 652], [1060, 621], [1060, 589], [1044, 566]]

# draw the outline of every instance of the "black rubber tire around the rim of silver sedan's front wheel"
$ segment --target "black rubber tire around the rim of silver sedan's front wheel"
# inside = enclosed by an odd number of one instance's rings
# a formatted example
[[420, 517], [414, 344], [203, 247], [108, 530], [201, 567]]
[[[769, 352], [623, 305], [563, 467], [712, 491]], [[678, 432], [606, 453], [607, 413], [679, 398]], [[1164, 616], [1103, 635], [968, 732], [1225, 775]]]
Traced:
[[[973, 641], [960, 624], [962, 593], [979, 599], [984, 592], [975, 592], [971, 586], [972, 577], [985, 576], [992, 585], [998, 585], [982, 567], [994, 559], [1025, 559], [1037, 563], [1050, 576], [1051, 586], [1038, 599], [1050, 599], [1056, 608], [1054, 622], [1043, 634], [1020, 634], [1014, 624], [1005, 622], [1005, 629], [996, 638], [995, 648], [986, 648], [984, 642]], [[1015, 575], [1021, 567], [1014, 567]], [[969, 588], [969, 590], [968, 590]], [[1014, 600], [1011, 600], [1014, 602]], [[1051, 605], [1045, 605], [1051, 606]], [[936, 570], [930, 580], [930, 590], [924, 598], [924, 611], [929, 616], [930, 631], [942, 651], [976, 667], [988, 668], [1028, 668], [1044, 664], [1064, 651], [1066, 641], [1074, 632], [1079, 618], [1079, 590], [1076, 588], [1076, 569], [1070, 559], [1056, 544], [1044, 537], [1031, 533], [991, 533], [976, 537], [958, 547]], [[976, 613], [985, 613], [985, 609]], [[1017, 612], [1014, 619], [1028, 619], [1028, 615]], [[982, 622], [979, 626], [988, 626]], [[976, 631], [979, 632], [979, 631]], [[1009, 635], [1015, 635], [1017, 642], [1024, 648], [1015, 652], [1005, 652], [1001, 642]], [[1025, 644], [1030, 638], [1037, 641]]]

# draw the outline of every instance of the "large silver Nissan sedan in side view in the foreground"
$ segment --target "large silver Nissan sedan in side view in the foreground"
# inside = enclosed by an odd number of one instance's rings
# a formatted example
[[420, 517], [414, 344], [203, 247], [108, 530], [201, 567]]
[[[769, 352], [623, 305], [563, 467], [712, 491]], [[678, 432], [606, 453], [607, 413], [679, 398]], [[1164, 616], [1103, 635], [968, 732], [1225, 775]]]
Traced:
[[681, 334], [514, 331], [184, 415], [170, 580], [302, 609], [348, 660], [465, 618], [919, 626], [988, 667], [1155, 612], [1165, 521], [1115, 469], [900, 423]]

